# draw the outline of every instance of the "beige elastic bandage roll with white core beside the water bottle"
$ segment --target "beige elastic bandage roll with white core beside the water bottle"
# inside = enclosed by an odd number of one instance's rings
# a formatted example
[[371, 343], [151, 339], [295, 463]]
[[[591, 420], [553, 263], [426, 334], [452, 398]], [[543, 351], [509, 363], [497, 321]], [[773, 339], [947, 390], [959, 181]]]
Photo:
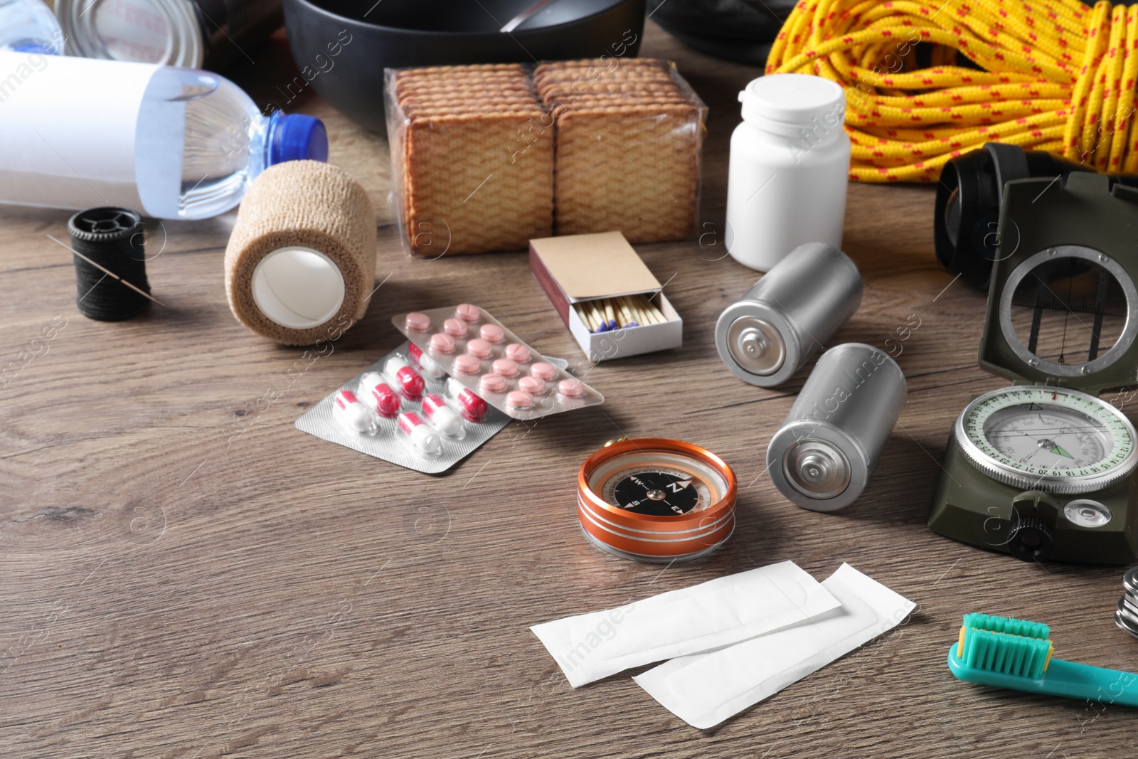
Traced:
[[283, 345], [336, 339], [368, 310], [376, 212], [341, 168], [270, 166], [249, 188], [225, 248], [225, 295], [242, 324]]

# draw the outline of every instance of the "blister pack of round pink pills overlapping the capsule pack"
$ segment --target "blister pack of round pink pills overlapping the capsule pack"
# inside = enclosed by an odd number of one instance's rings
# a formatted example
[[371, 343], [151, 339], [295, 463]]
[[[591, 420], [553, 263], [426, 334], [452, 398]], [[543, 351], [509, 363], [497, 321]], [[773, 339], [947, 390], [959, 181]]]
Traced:
[[[595, 406], [604, 396], [469, 303], [391, 317], [424, 366], [437, 368], [514, 419]], [[434, 370], [434, 369], [432, 369]]]

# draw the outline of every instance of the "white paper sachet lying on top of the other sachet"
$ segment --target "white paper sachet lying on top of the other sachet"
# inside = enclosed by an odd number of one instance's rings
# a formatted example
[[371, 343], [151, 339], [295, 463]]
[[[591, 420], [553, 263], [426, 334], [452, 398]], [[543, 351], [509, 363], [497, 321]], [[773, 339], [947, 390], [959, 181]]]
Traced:
[[629, 667], [745, 641], [838, 607], [792, 561], [718, 577], [534, 630], [574, 687]]

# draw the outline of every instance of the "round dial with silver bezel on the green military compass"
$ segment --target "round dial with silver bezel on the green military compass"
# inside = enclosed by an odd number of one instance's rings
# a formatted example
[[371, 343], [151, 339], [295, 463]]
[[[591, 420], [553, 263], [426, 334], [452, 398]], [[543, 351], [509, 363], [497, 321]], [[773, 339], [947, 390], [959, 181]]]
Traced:
[[1108, 487], [1138, 464], [1135, 428], [1095, 396], [1046, 386], [980, 396], [956, 438], [984, 473], [1016, 487], [1074, 494]]

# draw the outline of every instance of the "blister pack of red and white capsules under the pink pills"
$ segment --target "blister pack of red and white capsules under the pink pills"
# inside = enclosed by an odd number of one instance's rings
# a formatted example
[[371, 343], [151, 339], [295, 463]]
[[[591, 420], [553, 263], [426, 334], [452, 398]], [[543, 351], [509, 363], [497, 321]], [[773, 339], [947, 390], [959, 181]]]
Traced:
[[510, 423], [475, 391], [421, 361], [405, 343], [306, 411], [296, 428], [436, 475]]

